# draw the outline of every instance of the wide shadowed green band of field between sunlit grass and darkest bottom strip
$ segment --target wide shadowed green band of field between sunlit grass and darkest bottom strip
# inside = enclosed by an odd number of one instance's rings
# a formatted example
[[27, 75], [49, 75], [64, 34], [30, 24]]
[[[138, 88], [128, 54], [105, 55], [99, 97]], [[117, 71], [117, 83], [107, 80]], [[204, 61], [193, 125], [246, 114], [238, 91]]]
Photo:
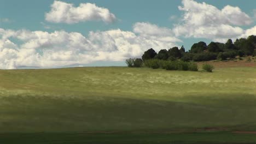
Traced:
[[172, 131], [206, 127], [255, 130], [256, 99], [250, 95], [232, 97], [237, 100], [232, 105], [227, 105], [232, 99], [201, 97], [194, 100], [209, 100], [213, 104], [96, 96], [93, 99], [3, 97], [0, 132]]

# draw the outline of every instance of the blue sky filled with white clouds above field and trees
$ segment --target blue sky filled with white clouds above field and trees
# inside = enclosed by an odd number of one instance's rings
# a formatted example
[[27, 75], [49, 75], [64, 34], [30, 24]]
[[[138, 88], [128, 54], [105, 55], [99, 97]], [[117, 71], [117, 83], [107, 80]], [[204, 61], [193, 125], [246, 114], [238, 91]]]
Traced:
[[255, 0], [0, 0], [0, 69], [123, 66], [256, 35]]

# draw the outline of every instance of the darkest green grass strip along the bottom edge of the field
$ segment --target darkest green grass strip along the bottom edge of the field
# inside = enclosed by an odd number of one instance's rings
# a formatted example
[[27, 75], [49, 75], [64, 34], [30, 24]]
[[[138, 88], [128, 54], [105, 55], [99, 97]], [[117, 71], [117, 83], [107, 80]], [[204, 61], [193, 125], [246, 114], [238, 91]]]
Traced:
[[72, 143], [72, 144], [156, 144], [156, 143], [202, 143], [234, 144], [256, 143], [253, 134], [181, 133], [181, 134], [86, 134], [86, 133], [34, 133], [34, 134], [0, 134], [0, 143], [37, 144], [37, 143]]

